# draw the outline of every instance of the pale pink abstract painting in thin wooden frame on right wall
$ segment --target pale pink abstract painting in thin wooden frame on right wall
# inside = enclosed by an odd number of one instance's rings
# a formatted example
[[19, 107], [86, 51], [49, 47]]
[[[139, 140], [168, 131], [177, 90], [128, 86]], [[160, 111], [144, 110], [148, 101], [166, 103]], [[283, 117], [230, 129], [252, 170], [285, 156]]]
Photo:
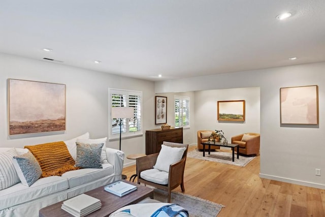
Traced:
[[318, 86], [280, 88], [281, 124], [318, 124]]

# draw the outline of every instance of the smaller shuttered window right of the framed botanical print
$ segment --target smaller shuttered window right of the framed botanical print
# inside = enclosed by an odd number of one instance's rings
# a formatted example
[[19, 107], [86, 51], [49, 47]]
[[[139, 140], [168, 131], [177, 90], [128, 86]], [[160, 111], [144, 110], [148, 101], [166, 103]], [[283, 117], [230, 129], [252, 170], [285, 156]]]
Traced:
[[175, 96], [175, 127], [189, 127], [189, 97]]

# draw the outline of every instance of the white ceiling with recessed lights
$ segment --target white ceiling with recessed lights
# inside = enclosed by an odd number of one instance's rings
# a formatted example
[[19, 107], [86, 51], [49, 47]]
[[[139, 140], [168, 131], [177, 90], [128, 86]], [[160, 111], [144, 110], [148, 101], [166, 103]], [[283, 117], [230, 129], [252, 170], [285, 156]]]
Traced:
[[324, 12], [324, 0], [0, 0], [0, 52], [151, 81], [315, 63]]

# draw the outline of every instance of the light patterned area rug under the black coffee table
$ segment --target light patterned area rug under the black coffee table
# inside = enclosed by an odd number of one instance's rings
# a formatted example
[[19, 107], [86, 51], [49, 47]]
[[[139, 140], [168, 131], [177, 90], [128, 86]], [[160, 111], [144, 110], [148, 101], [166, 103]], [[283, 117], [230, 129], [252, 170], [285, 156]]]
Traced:
[[232, 152], [219, 151], [219, 150], [210, 151], [210, 154], [208, 154], [208, 151], [206, 151], [205, 157], [203, 157], [203, 152], [199, 151], [197, 148], [195, 150], [191, 150], [187, 152], [187, 157], [201, 159], [205, 161], [214, 161], [223, 164], [231, 164], [240, 167], [245, 167], [251, 160], [256, 158], [256, 157], [239, 156], [239, 159], [237, 159], [237, 153], [235, 152], [235, 162], [233, 162]]

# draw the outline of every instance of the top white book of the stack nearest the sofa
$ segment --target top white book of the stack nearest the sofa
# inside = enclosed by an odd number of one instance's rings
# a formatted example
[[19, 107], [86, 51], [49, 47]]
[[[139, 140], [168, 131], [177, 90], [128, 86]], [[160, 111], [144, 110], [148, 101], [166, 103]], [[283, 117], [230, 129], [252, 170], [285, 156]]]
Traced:
[[83, 212], [93, 206], [101, 204], [101, 200], [86, 194], [81, 194], [63, 202], [63, 205], [76, 212]]

